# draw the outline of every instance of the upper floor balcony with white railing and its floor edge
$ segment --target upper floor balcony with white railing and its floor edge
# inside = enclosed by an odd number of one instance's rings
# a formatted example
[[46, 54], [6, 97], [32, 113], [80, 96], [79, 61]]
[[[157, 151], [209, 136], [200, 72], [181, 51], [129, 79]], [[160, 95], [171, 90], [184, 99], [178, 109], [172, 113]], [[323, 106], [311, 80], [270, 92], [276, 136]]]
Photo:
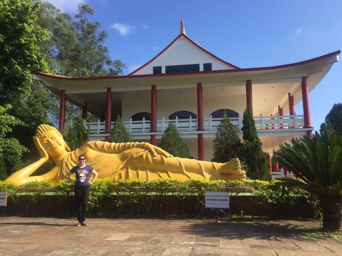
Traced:
[[[150, 132], [150, 120], [124, 121], [125, 127], [134, 140], [150, 139], [150, 135], [156, 135], [156, 138], [161, 138], [169, 123], [173, 123], [180, 133], [182, 138], [197, 138], [198, 133], [203, 133], [204, 138], [214, 138], [217, 127], [223, 118], [204, 118], [204, 131], [197, 131], [197, 119], [191, 116], [188, 119], [157, 119], [157, 132]], [[242, 117], [230, 118], [230, 121], [239, 130], [239, 135], [242, 137], [241, 128], [243, 126]], [[297, 136], [304, 134], [313, 128], [304, 128], [303, 115], [290, 116], [260, 116], [254, 117], [258, 136]], [[113, 127], [115, 122], [111, 122]], [[90, 128], [90, 140], [104, 140], [105, 122], [98, 120], [97, 122], [85, 122]]]

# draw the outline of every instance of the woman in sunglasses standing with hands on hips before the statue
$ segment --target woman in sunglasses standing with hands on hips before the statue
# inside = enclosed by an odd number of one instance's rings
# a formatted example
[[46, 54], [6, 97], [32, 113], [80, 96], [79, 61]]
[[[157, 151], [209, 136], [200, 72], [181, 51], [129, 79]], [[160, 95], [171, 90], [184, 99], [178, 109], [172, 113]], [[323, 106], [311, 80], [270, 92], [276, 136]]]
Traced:
[[[66, 175], [66, 179], [75, 184], [74, 192], [76, 199], [77, 220], [76, 226], [88, 226], [85, 223], [86, 207], [90, 192], [90, 184], [94, 184], [98, 174], [90, 165], [85, 164], [85, 155], [78, 157], [79, 164], [74, 166]], [[90, 181], [90, 173], [94, 178]], [[72, 180], [70, 175], [75, 174], [76, 180]]]

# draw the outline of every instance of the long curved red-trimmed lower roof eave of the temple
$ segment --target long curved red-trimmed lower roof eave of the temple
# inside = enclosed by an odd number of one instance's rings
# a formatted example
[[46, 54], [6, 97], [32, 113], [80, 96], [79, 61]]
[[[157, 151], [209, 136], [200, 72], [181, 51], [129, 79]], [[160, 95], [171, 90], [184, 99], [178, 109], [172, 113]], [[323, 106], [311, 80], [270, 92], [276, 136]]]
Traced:
[[184, 76], [184, 75], [204, 75], [204, 74], [219, 74], [219, 73], [237, 73], [237, 72], [250, 72], [250, 71], [269, 71], [269, 70], [277, 70], [282, 68], [291, 68], [298, 67], [305, 64], [313, 63], [322, 59], [327, 59], [333, 56], [340, 55], [341, 51], [335, 51], [332, 53], [328, 53], [313, 59], [307, 59], [295, 63], [283, 64], [278, 66], [269, 66], [269, 67], [254, 67], [254, 68], [237, 68], [237, 69], [226, 69], [226, 70], [214, 70], [214, 71], [198, 71], [198, 72], [186, 72], [186, 73], [167, 73], [167, 74], [147, 74], [147, 75], [127, 75], [127, 76], [116, 76], [116, 77], [93, 77], [93, 78], [72, 78], [61, 75], [54, 75], [50, 73], [44, 72], [31, 72], [32, 74], [48, 77], [52, 79], [58, 80], [103, 80], [103, 79], [134, 79], [134, 78], [149, 78], [149, 77], [168, 77], [168, 76]]

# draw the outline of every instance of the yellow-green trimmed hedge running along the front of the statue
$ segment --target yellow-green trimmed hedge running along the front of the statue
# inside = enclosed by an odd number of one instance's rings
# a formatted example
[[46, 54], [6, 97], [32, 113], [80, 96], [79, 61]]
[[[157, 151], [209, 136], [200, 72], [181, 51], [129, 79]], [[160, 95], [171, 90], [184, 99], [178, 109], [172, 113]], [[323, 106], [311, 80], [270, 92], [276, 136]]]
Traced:
[[[43, 203], [44, 209], [47, 211], [50, 195], [58, 197], [61, 202], [73, 198], [73, 184], [66, 180], [59, 183], [32, 181], [22, 186], [0, 181], [0, 191], [7, 191], [8, 198], [14, 203], [18, 202], [19, 198], [24, 197], [26, 213], [30, 205], [37, 202]], [[97, 179], [91, 185], [88, 208], [90, 212], [102, 213], [104, 201], [110, 199], [118, 213], [123, 212], [126, 207], [130, 209], [131, 215], [136, 215], [136, 212], [133, 211], [141, 211], [142, 214], [149, 215], [151, 207], [156, 207], [158, 213], [163, 215], [164, 210], [170, 207], [172, 200], [176, 198], [181, 202], [181, 215], [189, 215], [191, 212], [202, 216], [205, 191], [229, 191], [232, 196], [253, 196], [255, 198], [254, 203], [267, 204], [270, 211], [275, 211], [277, 205], [280, 204], [291, 207], [298, 202], [299, 198], [312, 204], [315, 202], [315, 198], [310, 193], [300, 188], [286, 187], [281, 180], [226, 182], [224, 180], [208, 181], [204, 179], [184, 181], [177, 179], [157, 179], [153, 181]]]

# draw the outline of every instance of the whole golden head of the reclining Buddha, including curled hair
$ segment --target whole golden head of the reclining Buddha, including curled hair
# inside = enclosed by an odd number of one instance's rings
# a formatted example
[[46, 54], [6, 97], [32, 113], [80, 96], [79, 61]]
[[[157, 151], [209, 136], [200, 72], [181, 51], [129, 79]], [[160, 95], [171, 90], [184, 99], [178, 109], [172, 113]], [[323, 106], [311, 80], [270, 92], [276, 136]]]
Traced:
[[62, 134], [53, 126], [41, 124], [36, 129], [36, 135], [47, 154], [52, 158], [63, 156], [70, 148], [66, 145]]

